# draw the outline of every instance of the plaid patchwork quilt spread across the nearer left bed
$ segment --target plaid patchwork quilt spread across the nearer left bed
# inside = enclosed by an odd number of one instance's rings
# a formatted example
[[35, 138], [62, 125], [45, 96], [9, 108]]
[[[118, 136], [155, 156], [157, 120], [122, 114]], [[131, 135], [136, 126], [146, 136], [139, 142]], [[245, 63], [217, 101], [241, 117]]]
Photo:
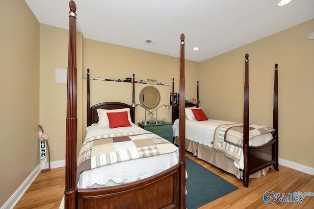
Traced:
[[106, 134], [86, 139], [78, 156], [78, 175], [100, 166], [175, 152], [178, 148], [149, 131]]

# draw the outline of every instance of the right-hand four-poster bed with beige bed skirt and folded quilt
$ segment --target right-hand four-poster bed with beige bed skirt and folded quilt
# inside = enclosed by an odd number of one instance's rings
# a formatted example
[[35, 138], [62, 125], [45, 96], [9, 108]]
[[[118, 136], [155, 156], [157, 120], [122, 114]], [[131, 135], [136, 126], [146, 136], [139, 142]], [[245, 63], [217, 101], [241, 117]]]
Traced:
[[[174, 93], [174, 80], [172, 92]], [[197, 82], [196, 103], [185, 102], [181, 107], [185, 107], [186, 127], [185, 127], [185, 148], [199, 159], [207, 161], [231, 174], [238, 179], [243, 178], [243, 186], [248, 187], [249, 178], [258, 178], [265, 175], [269, 166], [278, 168], [278, 64], [274, 70], [274, 106], [273, 106], [273, 127], [266, 127], [249, 123], [249, 55], [245, 55], [245, 79], [244, 79], [244, 112], [243, 123], [236, 124], [230, 121], [212, 120], [207, 117], [198, 121], [192, 111], [199, 108], [199, 82]], [[178, 130], [178, 110], [173, 104], [174, 122], [174, 142], [177, 143]], [[191, 114], [191, 116], [190, 116]], [[233, 127], [237, 126], [237, 127]], [[238, 129], [241, 143], [228, 142]], [[259, 129], [260, 128], [260, 129]], [[227, 132], [229, 131], [230, 132]], [[259, 131], [257, 131], [259, 130]], [[261, 132], [263, 133], [261, 133]], [[227, 133], [227, 134], [224, 134]], [[252, 134], [253, 133], [253, 134]], [[238, 134], [238, 132], [236, 132]], [[254, 135], [254, 136], [252, 136]], [[257, 136], [258, 135], [258, 136]], [[220, 139], [219, 139], [220, 137]], [[237, 155], [230, 150], [225, 151], [225, 147], [237, 151]], [[241, 156], [242, 155], [242, 156]]]

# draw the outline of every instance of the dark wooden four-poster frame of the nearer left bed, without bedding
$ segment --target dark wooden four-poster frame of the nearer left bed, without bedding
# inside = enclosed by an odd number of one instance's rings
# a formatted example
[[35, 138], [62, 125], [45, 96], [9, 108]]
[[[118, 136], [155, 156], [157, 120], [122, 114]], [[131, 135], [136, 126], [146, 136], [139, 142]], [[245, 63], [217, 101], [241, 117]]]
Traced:
[[[76, 57], [76, 3], [69, 3], [69, 54], [67, 82], [67, 117], [66, 117], [66, 166], [64, 208], [139, 208], [139, 209], [185, 209], [185, 113], [180, 111], [179, 157], [177, 163], [170, 168], [142, 180], [106, 187], [79, 188], [77, 160], [77, 57]], [[181, 34], [180, 58], [180, 104], [184, 105], [184, 35]], [[134, 75], [133, 75], [134, 77]], [[99, 109], [130, 109], [134, 122], [134, 108], [120, 102], [104, 102], [90, 108], [89, 71], [87, 79], [87, 123], [88, 126], [99, 122]], [[132, 103], [134, 103], [134, 78]], [[122, 113], [122, 112], [119, 112]], [[109, 115], [107, 115], [109, 117]], [[111, 124], [110, 124], [111, 125]], [[136, 137], [136, 136], [135, 136]], [[160, 139], [161, 140], [161, 139]], [[85, 141], [84, 141], [85, 142]], [[173, 144], [171, 144], [173, 145]], [[174, 146], [174, 145], [173, 145]], [[91, 151], [92, 152], [92, 151]], [[81, 152], [80, 152], [81, 153]], [[88, 153], [88, 151], [86, 151]], [[79, 156], [80, 157], [80, 156]], [[138, 160], [138, 159], [137, 159]], [[79, 162], [78, 162], [79, 161]], [[131, 160], [133, 161], [133, 160]], [[130, 162], [131, 162], [130, 161]], [[125, 162], [127, 163], [127, 162]], [[116, 163], [118, 164], [118, 163]], [[90, 168], [90, 165], [87, 165]], [[106, 165], [110, 166], [110, 165]], [[86, 167], [84, 165], [84, 167]]]

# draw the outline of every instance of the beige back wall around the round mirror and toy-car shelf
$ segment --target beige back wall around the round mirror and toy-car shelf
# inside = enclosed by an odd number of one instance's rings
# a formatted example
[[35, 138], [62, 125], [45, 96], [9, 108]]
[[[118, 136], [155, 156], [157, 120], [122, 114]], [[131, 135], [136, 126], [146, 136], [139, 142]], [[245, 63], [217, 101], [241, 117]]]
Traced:
[[[178, 35], [180, 41], [180, 34]], [[180, 55], [180, 42], [178, 42]], [[125, 79], [135, 74], [135, 80], [157, 79], [157, 82], [169, 86], [154, 85], [160, 92], [160, 105], [170, 103], [172, 78], [175, 78], [175, 92], [179, 92], [180, 59], [151, 53], [124, 46], [117, 46], [90, 39], [83, 39], [83, 77], [90, 69], [90, 77]], [[200, 63], [185, 61], [186, 99], [196, 97], [196, 82]], [[83, 81], [83, 127], [86, 127], [86, 80]], [[139, 103], [138, 94], [146, 84], [135, 85], [135, 103]], [[91, 105], [104, 101], [132, 103], [131, 83], [91, 80]], [[147, 115], [147, 118], [150, 116]], [[158, 109], [158, 118], [166, 117], [171, 121], [171, 111]], [[135, 123], [145, 118], [144, 109], [136, 108]], [[83, 131], [83, 136], [85, 132]]]

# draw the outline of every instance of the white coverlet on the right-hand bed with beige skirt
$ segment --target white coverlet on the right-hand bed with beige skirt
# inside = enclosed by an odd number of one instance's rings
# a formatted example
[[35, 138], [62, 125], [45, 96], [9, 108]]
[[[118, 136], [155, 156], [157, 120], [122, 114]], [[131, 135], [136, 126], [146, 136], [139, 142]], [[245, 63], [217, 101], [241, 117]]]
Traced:
[[[225, 120], [185, 120], [185, 138], [192, 141], [204, 144], [212, 148], [212, 142], [214, 138], [214, 132], [217, 126], [223, 124], [231, 124], [235, 122], [225, 121]], [[179, 119], [176, 119], [173, 126], [173, 136], [179, 136]], [[249, 140], [250, 146], [259, 146], [267, 143], [273, 139], [272, 134], [263, 134], [257, 137], [254, 137]], [[237, 168], [244, 169], [244, 156], [243, 151], [239, 163], [234, 162]]]

